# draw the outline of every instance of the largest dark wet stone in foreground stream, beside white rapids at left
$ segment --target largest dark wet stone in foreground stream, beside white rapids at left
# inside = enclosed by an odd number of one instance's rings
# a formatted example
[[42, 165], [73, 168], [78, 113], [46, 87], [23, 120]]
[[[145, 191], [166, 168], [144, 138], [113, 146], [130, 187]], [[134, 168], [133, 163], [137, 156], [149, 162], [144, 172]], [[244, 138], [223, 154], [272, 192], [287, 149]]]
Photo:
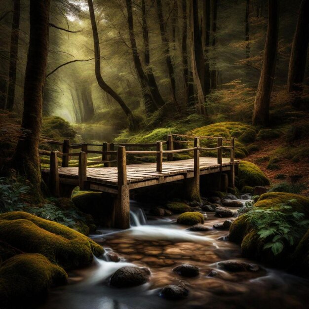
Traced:
[[122, 267], [114, 272], [111, 285], [117, 288], [129, 288], [147, 282], [147, 276], [137, 267]]

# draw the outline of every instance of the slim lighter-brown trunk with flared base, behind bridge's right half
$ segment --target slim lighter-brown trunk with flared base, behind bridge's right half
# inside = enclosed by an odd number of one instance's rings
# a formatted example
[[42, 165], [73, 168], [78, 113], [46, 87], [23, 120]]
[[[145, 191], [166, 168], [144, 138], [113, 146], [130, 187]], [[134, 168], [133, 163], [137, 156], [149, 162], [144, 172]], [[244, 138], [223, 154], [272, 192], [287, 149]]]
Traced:
[[[207, 115], [207, 111], [205, 108], [204, 92], [200, 81], [200, 75], [198, 74], [197, 61], [196, 61], [196, 54], [198, 53], [196, 53], [195, 49], [201, 48], [201, 37], [199, 33], [198, 15], [196, 10], [197, 10], [197, 0], [191, 0], [191, 66], [193, 73], [193, 81], [194, 84], [196, 85], [197, 101], [198, 101], [195, 108], [198, 114]], [[199, 41], [197, 35], [195, 34], [195, 31], [197, 31], [198, 33]]]

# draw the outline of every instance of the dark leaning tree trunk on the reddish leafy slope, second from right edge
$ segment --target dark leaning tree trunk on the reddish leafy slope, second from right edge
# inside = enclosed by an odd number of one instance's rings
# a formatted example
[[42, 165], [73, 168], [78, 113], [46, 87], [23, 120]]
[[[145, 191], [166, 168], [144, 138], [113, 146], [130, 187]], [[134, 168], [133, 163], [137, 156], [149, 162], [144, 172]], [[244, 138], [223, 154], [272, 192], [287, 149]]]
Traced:
[[268, 28], [264, 47], [263, 65], [255, 96], [252, 123], [269, 123], [270, 95], [272, 91], [278, 49], [278, 0], [269, 0]]

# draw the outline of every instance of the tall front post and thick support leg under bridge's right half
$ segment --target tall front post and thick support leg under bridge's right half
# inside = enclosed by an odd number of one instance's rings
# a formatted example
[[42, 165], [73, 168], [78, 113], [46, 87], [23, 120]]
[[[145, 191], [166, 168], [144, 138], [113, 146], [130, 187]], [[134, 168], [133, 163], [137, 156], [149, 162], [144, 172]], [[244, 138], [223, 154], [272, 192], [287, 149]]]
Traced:
[[199, 192], [199, 138], [194, 138], [194, 177], [185, 180], [186, 198], [200, 202]]

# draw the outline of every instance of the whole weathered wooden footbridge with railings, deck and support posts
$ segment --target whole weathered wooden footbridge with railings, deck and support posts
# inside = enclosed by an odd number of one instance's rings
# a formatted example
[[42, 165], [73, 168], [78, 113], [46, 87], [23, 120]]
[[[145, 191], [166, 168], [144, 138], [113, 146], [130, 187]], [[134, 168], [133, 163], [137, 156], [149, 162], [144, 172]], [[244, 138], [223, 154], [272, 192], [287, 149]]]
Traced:
[[[204, 140], [215, 143], [215, 147], [201, 147], [200, 141]], [[149, 144], [70, 145], [69, 140], [63, 143], [47, 142], [62, 145], [62, 153], [41, 151], [41, 154], [50, 154], [50, 168], [42, 169], [42, 176], [48, 179], [51, 192], [59, 196], [60, 186], [70, 185], [79, 186], [80, 190], [113, 194], [115, 197], [114, 226], [120, 229], [129, 228], [129, 192], [132, 189], [183, 180], [186, 182], [188, 198], [200, 200], [200, 176], [206, 174], [219, 175], [219, 178], [214, 177], [219, 182], [219, 186], [223, 179], [226, 187], [227, 183], [230, 187], [234, 187], [235, 166], [238, 162], [234, 161], [233, 138], [224, 140], [222, 137], [171, 134], [168, 135], [167, 141]], [[228, 145], [224, 146], [224, 142], [228, 142]], [[192, 147], [190, 144], [193, 144]], [[182, 145], [188, 147], [183, 148]], [[102, 150], [90, 150], [96, 147], [101, 147]], [[128, 150], [133, 147], [138, 149], [155, 147], [155, 150]], [[115, 148], [117, 148], [116, 151]], [[77, 149], [80, 151], [74, 152]], [[228, 158], [223, 157], [225, 150], [230, 152]], [[174, 160], [175, 154], [188, 154], [188, 152], [193, 152], [193, 158]], [[201, 155], [209, 152], [215, 152], [216, 157]], [[100, 154], [100, 157], [102, 155], [102, 160], [98, 162], [104, 163], [104, 167], [87, 167], [87, 156], [90, 154]], [[62, 167], [58, 167], [59, 155], [62, 156]], [[127, 164], [127, 158], [131, 161], [136, 159], [136, 155], [155, 155], [156, 160], [154, 163]], [[78, 167], [69, 166], [69, 158], [74, 156], [78, 157]]]

